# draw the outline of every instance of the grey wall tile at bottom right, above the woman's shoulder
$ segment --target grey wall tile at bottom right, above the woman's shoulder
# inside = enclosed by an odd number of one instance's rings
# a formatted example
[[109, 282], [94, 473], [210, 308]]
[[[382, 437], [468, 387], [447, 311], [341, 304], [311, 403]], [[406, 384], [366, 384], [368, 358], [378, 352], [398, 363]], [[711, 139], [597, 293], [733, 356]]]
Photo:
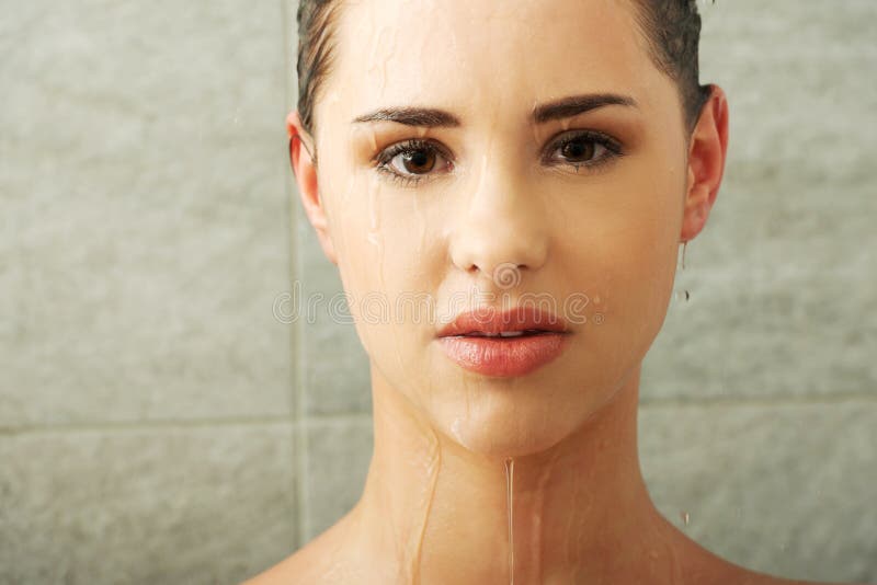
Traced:
[[640, 460], [661, 513], [720, 557], [787, 578], [870, 583], [875, 429], [874, 402], [646, 406]]

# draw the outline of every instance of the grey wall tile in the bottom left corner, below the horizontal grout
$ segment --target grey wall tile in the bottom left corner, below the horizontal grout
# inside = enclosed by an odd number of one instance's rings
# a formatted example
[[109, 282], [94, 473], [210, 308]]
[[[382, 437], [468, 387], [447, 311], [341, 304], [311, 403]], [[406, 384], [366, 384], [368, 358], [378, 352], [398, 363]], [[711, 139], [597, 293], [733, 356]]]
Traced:
[[0, 583], [239, 583], [295, 542], [288, 424], [0, 437]]

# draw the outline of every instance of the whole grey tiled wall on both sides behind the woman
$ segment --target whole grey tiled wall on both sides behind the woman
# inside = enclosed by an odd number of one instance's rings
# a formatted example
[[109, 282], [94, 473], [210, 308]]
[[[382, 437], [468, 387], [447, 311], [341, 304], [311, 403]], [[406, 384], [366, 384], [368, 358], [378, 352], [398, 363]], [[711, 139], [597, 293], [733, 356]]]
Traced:
[[[272, 314], [340, 290], [284, 156], [296, 3], [0, 5], [0, 583], [235, 583], [356, 501], [353, 328]], [[877, 582], [877, 4], [702, 7], [730, 160], [643, 472], [734, 562]]]

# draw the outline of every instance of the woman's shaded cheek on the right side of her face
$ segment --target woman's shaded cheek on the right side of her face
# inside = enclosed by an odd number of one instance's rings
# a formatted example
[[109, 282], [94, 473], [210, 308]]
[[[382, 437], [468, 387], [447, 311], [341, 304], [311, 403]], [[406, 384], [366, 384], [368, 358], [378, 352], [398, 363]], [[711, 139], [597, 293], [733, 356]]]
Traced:
[[[681, 151], [681, 149], [680, 149]], [[601, 347], [610, 369], [639, 360], [657, 335], [672, 295], [682, 202], [684, 160], [641, 151], [616, 169], [594, 177], [588, 188], [563, 195], [562, 229], [555, 239], [559, 274], [569, 275], [567, 291], [584, 291], [591, 319], [584, 333]], [[623, 360], [617, 362], [616, 360]]]

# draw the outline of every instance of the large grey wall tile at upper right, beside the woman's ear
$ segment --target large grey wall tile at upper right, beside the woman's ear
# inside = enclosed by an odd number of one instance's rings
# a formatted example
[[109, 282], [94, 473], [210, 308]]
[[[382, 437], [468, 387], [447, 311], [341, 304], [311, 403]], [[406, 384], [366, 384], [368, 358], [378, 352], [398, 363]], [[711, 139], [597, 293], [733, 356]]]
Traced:
[[703, 3], [702, 81], [730, 104], [729, 161], [643, 368], [643, 400], [877, 387], [872, 152], [877, 4]]

